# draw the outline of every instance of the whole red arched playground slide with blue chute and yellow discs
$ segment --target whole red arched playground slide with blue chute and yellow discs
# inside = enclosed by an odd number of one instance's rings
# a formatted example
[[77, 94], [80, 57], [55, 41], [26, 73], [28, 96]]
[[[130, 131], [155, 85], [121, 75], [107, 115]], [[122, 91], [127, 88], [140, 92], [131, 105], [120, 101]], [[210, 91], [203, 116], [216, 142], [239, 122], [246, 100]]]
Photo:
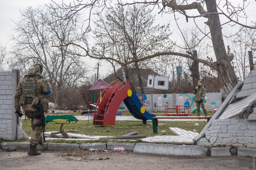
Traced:
[[[152, 120], [156, 115], [148, 113], [135, 92], [129, 89], [130, 83], [127, 80], [109, 89], [109, 92], [112, 93], [110, 94], [107, 92], [101, 102], [99, 103], [98, 100], [96, 103], [96, 107], [99, 106], [99, 109], [98, 113], [94, 113], [93, 125], [115, 125], [116, 112], [122, 101], [124, 101], [124, 104], [136, 119], [142, 120], [144, 124], [147, 123], [147, 120]], [[105, 106], [103, 105], [103, 102]]]

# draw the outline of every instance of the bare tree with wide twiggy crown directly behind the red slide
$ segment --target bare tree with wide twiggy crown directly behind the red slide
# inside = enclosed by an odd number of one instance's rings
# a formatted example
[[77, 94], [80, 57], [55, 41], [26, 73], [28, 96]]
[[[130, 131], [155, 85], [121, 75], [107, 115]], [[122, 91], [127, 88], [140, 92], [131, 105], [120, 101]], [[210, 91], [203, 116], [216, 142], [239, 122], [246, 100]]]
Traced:
[[[170, 50], [169, 25], [153, 26], [155, 17], [150, 10], [150, 8], [143, 8], [142, 5], [131, 5], [110, 7], [108, 11], [99, 13], [95, 22], [97, 28], [93, 32], [97, 43], [93, 47], [92, 54], [97, 57], [111, 57], [124, 63], [157, 51]], [[108, 61], [112, 64], [116, 75], [116, 62]], [[145, 65], [147, 61], [135, 61], [133, 64], [122, 67], [125, 78], [130, 81], [134, 91], [135, 85], [129, 74], [136, 70], [142, 94], [144, 94], [144, 87], [140, 68]], [[120, 77], [117, 78], [120, 79]]]

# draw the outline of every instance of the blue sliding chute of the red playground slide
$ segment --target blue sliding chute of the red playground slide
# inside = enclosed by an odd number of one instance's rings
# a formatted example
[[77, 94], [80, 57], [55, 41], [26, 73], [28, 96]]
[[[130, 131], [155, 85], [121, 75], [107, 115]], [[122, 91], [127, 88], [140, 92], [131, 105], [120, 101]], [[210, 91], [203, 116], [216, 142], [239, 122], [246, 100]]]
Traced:
[[140, 108], [143, 106], [136, 95], [135, 92], [132, 91], [131, 97], [126, 97], [124, 99], [124, 104], [130, 111], [130, 113], [136, 118], [143, 121], [144, 124], [147, 123], [147, 120], [152, 120], [153, 117], [156, 117], [154, 114], [150, 114], [145, 110], [145, 113], [140, 112]]

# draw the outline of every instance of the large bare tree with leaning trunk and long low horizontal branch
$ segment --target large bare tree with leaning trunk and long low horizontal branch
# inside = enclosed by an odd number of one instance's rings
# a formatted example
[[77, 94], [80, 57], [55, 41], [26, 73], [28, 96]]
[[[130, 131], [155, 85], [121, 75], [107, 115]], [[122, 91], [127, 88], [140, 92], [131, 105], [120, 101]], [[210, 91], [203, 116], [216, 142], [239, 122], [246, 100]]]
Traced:
[[[188, 22], [188, 18], [194, 18], [194, 20], [195, 20], [195, 18], [198, 18], [198, 17], [207, 18], [208, 21], [205, 22], [205, 24], [210, 28], [210, 32], [206, 32], [201, 29], [200, 29], [200, 31], [201, 31], [201, 33], [204, 34], [204, 37], [208, 37], [212, 40], [212, 45], [213, 45], [215, 58], [216, 58], [216, 61], [214, 60], [214, 62], [209, 62], [207, 60], [194, 57], [191, 54], [184, 54], [184, 53], [172, 52], [172, 51], [157, 52], [155, 54], [150, 54], [145, 57], [141, 57], [140, 59], [133, 58], [129, 61], [121, 62], [119, 60], [116, 60], [113, 57], [106, 57], [106, 56], [98, 57], [98, 56], [91, 55], [89, 53], [89, 46], [88, 46], [88, 43], [87, 43], [87, 40], [85, 37], [83, 38], [83, 41], [85, 43], [84, 45], [69, 43], [69, 44], [66, 44], [66, 46], [70, 45], [70, 44], [74, 44], [84, 50], [85, 55], [81, 55], [81, 56], [89, 56], [91, 58], [96, 58], [96, 59], [112, 60], [122, 66], [128, 65], [131, 63], [135, 63], [135, 62], [141, 62], [144, 60], [148, 60], [148, 59], [154, 58], [156, 56], [160, 56], [160, 55], [179, 55], [182, 57], [186, 57], [186, 58], [195, 60], [197, 62], [206, 64], [206, 65], [212, 67], [214, 70], [216, 70], [219, 73], [219, 75], [222, 78], [223, 85], [224, 85], [224, 87], [221, 88], [222, 101], [224, 101], [226, 99], [226, 97], [228, 96], [228, 94], [232, 91], [234, 86], [237, 84], [238, 81], [236, 78], [235, 71], [231, 64], [231, 61], [233, 60], [234, 55], [227, 54], [225, 44], [223, 41], [221, 26], [229, 23], [229, 24], [233, 24], [233, 25], [238, 24], [240, 26], [248, 27], [251, 29], [256, 29], [256, 27], [255, 26], [247, 26], [247, 25], [244, 25], [241, 22], [239, 22], [239, 18], [245, 16], [244, 9], [247, 6], [245, 4], [246, 1], [243, 1], [243, 4], [241, 6], [238, 5], [237, 7], [232, 5], [228, 0], [226, 0], [226, 1], [223, 0], [221, 2], [224, 2], [224, 7], [226, 8], [225, 10], [223, 10], [222, 6], [220, 6], [221, 3], [219, 1], [217, 2], [216, 0], [201, 0], [201, 1], [193, 2], [191, 4], [188, 3], [188, 0], [184, 0], [184, 1], [178, 1], [178, 0], [177, 1], [175, 1], [175, 0], [168, 1], [168, 0], [166, 0], [166, 1], [162, 1], [162, 2], [159, 2], [158, 0], [156, 0], [156, 1], [143, 0], [140, 2], [126, 3], [126, 4], [123, 4], [122, 2], [118, 2], [118, 4], [120, 4], [120, 5], [144, 4], [145, 6], [148, 6], [148, 5], [153, 5], [154, 7], [157, 6], [159, 9], [161, 9], [159, 13], [161, 13], [161, 12], [173, 13], [174, 17], [175, 17], [175, 21], [177, 19], [176, 18], [177, 14], [184, 15], [187, 22]], [[59, 6], [59, 7], [66, 8], [66, 9], [70, 10], [70, 13], [67, 16], [65, 16], [66, 18], [68, 18], [68, 17], [72, 17], [73, 14], [75, 14], [77, 11], [81, 11], [82, 9], [89, 8], [90, 12], [91, 12], [92, 11], [91, 9], [93, 7], [96, 7], [96, 4], [99, 7], [101, 7], [101, 9], [102, 9], [102, 7], [106, 6], [106, 1], [105, 0], [95, 0], [95, 1], [90, 1], [89, 4], [88, 3], [83, 4], [82, 0], [81, 0], [81, 1], [77, 1], [77, 3], [74, 3], [74, 4], [69, 4], [69, 5], [63, 4], [62, 6]], [[205, 9], [205, 7], [206, 7], [206, 9]], [[199, 15], [189, 16], [186, 14], [187, 10], [193, 10], [193, 9], [196, 9], [198, 11]], [[228, 19], [228, 21], [226, 23], [221, 24], [219, 15], [225, 16]], [[196, 24], [196, 22], [195, 22], [195, 24]], [[178, 24], [177, 24], [177, 26], [179, 28]], [[88, 29], [86, 29], [86, 31], [88, 31]], [[204, 37], [200, 41], [202, 41], [204, 39]]]

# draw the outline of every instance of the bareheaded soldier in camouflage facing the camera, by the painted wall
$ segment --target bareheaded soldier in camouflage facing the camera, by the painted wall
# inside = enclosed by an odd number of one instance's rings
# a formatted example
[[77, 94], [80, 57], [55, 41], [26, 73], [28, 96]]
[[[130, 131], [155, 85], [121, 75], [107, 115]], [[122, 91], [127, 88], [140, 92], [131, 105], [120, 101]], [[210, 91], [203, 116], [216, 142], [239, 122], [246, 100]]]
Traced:
[[196, 95], [194, 100], [196, 102], [197, 116], [200, 116], [200, 105], [204, 111], [204, 115], [207, 116], [207, 111], [204, 107], [205, 86], [202, 84], [203, 84], [203, 81], [199, 80], [198, 85], [196, 86], [193, 92], [193, 94]]

